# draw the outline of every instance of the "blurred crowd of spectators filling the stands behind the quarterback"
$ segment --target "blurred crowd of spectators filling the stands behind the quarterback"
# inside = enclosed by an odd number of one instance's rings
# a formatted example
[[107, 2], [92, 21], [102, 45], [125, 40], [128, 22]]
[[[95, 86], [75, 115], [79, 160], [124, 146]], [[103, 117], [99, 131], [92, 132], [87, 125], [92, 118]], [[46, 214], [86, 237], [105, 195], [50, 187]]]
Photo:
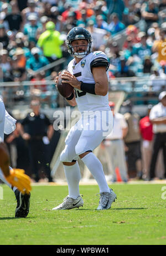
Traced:
[[69, 61], [65, 39], [75, 26], [90, 31], [92, 50], [107, 54], [110, 77], [165, 79], [165, 0], [1, 0], [1, 81], [40, 80], [35, 70], [62, 57]]

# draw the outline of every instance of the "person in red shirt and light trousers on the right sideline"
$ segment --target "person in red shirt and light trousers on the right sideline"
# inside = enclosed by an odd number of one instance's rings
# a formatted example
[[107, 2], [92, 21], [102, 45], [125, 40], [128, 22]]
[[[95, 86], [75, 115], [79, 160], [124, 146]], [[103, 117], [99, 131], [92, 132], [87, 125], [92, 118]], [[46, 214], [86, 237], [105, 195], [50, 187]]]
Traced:
[[139, 129], [142, 136], [142, 164], [143, 164], [143, 180], [149, 178], [149, 166], [152, 155], [152, 144], [153, 144], [153, 125], [149, 119], [149, 114], [152, 109], [152, 105], [148, 105], [147, 116], [143, 117], [139, 121]]

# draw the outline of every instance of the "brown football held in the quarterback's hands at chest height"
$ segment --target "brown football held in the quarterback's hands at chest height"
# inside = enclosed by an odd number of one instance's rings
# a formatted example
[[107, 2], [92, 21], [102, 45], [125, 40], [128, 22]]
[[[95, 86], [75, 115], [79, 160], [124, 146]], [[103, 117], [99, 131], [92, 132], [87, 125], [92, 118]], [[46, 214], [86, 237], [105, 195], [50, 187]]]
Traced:
[[58, 76], [58, 81], [57, 81], [56, 86], [57, 86], [59, 93], [64, 98], [68, 98], [71, 95], [74, 88], [68, 83], [62, 83], [62, 80], [65, 80], [65, 79], [61, 78], [61, 75], [64, 74], [64, 71], [67, 71], [67, 70], [61, 71], [60, 75]]

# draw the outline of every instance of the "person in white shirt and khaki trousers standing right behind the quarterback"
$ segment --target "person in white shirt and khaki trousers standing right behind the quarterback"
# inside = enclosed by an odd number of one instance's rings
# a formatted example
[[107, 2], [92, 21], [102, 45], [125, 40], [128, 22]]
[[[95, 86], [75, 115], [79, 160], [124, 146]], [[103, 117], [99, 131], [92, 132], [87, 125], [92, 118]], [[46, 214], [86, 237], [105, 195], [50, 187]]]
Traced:
[[113, 131], [105, 138], [103, 143], [107, 153], [108, 168], [112, 174], [111, 181], [117, 181], [116, 168], [118, 167], [122, 181], [127, 182], [128, 177], [123, 138], [127, 134], [128, 126], [123, 115], [118, 112], [115, 113], [115, 103], [110, 101], [109, 106], [113, 112], [114, 125]]

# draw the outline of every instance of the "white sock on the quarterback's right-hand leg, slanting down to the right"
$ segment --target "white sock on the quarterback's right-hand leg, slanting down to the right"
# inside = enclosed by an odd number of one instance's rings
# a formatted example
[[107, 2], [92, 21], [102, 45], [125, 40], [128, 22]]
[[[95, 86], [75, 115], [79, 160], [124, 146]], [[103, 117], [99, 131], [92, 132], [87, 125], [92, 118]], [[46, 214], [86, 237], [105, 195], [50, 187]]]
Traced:
[[86, 156], [82, 157], [81, 160], [85, 163], [87, 168], [89, 168], [90, 172], [94, 176], [97, 184], [100, 188], [101, 192], [109, 192], [110, 188], [106, 182], [105, 173], [103, 172], [102, 164], [98, 160], [98, 158], [94, 155], [94, 153], [88, 153]]

